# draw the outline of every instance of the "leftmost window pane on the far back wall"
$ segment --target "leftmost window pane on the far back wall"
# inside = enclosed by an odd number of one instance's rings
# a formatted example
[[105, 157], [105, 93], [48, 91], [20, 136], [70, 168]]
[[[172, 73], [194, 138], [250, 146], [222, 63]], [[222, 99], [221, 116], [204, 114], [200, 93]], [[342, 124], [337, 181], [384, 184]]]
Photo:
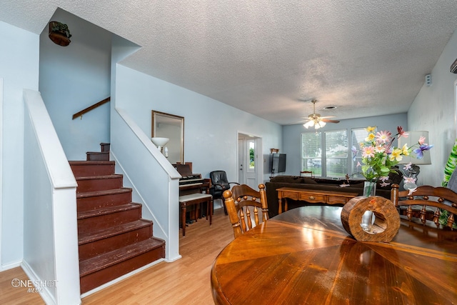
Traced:
[[301, 134], [301, 171], [312, 171], [314, 176], [322, 175], [321, 132]]

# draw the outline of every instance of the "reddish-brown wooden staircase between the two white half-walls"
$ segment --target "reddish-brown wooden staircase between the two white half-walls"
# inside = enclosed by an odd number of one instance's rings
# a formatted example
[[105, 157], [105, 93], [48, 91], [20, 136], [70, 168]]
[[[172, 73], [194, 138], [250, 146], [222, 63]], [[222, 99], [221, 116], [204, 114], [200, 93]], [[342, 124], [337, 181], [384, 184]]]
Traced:
[[165, 241], [153, 236], [152, 221], [141, 219], [141, 204], [114, 174], [109, 144], [69, 163], [78, 183], [81, 294], [165, 257]]

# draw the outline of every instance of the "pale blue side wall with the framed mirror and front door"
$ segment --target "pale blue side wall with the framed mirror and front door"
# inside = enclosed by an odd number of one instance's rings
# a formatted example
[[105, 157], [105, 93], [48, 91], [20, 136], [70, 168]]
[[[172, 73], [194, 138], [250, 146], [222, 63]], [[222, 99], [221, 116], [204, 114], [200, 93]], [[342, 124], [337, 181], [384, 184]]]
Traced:
[[278, 124], [125, 66], [117, 69], [116, 107], [126, 109], [145, 134], [151, 136], [152, 110], [184, 116], [184, 161], [193, 162], [194, 173], [209, 177], [222, 169], [237, 181], [238, 131], [260, 136], [263, 154], [281, 148]]

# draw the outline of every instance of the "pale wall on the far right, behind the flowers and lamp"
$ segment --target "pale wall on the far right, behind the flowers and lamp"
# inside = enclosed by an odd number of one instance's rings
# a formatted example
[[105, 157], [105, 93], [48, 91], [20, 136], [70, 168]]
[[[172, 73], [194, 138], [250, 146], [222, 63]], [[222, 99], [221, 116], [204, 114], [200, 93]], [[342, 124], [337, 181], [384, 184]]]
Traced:
[[[431, 165], [421, 166], [421, 184], [441, 186], [444, 166], [456, 140], [456, 101], [454, 82], [457, 74], [449, 70], [457, 58], [457, 34], [454, 32], [431, 71], [431, 86], [422, 86], [408, 111], [411, 130], [428, 131]], [[425, 75], [424, 75], [425, 77]]]

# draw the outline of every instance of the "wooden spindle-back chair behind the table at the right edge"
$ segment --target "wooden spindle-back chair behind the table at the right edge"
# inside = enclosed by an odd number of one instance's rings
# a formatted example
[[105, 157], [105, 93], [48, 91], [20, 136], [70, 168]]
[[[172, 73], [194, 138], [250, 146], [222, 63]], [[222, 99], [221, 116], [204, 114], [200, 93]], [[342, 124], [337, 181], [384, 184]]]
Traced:
[[[398, 187], [398, 184], [392, 184], [391, 201], [401, 215], [406, 215], [410, 221], [413, 218], [421, 219], [424, 225], [426, 221], [433, 221], [437, 228], [440, 227], [440, 218], [442, 218], [443, 226], [456, 227], [456, 192], [441, 186], [418, 186], [416, 191], [409, 194], [409, 191], [399, 191]], [[446, 215], [441, 217], [443, 213]]]

